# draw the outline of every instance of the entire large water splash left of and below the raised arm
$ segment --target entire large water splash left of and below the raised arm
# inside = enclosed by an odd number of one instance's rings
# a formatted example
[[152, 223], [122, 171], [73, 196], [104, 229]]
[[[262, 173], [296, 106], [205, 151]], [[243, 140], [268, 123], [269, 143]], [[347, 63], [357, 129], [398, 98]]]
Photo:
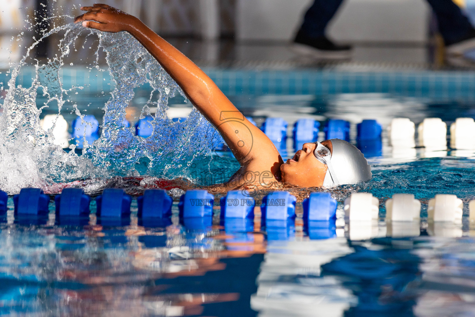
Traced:
[[[22, 67], [28, 67], [26, 60], [30, 51], [41, 39], [59, 32], [65, 32], [59, 44], [60, 54], [46, 64], [36, 61], [36, 76], [30, 87], [16, 85]], [[57, 103], [59, 115], [64, 104], [71, 102], [68, 96], [84, 88], [65, 89], [60, 76], [64, 59], [70, 55], [70, 48], [74, 47], [81, 32], [97, 33], [99, 48], [95, 52], [91, 50], [91, 55], [96, 56], [93, 67], [100, 70], [99, 49], [103, 49], [115, 88], [104, 105], [101, 137], [93, 144], [85, 144], [83, 155], [78, 156], [74, 151], [66, 153], [54, 145], [54, 126], [47, 132], [40, 127], [43, 107], [37, 108], [36, 99], [38, 93], [42, 93], [47, 97], [45, 106]], [[52, 29], [41, 39], [28, 48], [25, 57], [11, 71], [0, 117], [2, 190], [16, 193], [31, 185], [47, 189], [53, 183], [116, 175], [190, 178], [191, 166], [196, 162], [209, 166], [210, 154], [222, 142], [221, 136], [196, 109], [182, 123], [167, 117], [168, 99], [176, 93], [183, 97], [184, 94], [157, 60], [129, 33], [105, 33], [67, 24]], [[143, 85], [152, 87], [144, 112], [151, 105], [157, 107], [152, 122], [153, 134], [149, 138], [135, 136], [123, 125], [125, 108], [133, 99], [134, 88]], [[76, 114], [83, 116], [77, 106], [73, 106]], [[74, 149], [75, 146], [70, 147]]]

